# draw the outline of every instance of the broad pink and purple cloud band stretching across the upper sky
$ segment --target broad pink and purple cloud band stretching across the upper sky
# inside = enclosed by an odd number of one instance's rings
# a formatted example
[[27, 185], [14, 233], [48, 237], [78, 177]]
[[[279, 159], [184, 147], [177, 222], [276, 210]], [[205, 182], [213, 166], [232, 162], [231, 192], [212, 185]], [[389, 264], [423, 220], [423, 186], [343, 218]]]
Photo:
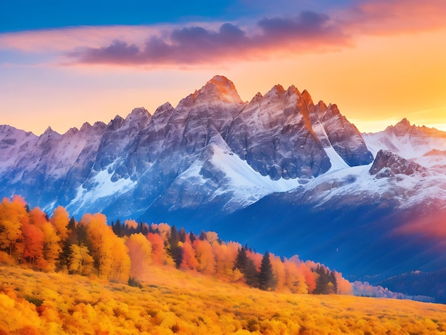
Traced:
[[324, 13], [280, 9], [289, 14], [275, 11], [275, 16], [243, 20], [246, 26], [234, 21], [5, 33], [0, 34], [0, 51], [51, 53], [54, 63], [68, 66], [209, 66], [339, 51], [362, 36], [446, 28], [444, 0], [363, 0]]

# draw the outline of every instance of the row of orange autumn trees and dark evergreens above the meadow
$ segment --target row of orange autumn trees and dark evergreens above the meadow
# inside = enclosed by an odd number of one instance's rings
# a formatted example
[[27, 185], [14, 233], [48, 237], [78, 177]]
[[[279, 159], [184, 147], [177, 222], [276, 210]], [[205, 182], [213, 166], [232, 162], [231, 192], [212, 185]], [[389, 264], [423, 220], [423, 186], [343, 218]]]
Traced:
[[292, 293], [351, 294], [351, 283], [322, 264], [294, 256], [259, 254], [216, 232], [195, 235], [165, 223], [118, 220], [85, 214], [76, 221], [59, 206], [51, 217], [22, 197], [0, 204], [0, 262], [44, 272], [67, 272], [138, 285], [147, 267], [171, 266], [227, 282]]

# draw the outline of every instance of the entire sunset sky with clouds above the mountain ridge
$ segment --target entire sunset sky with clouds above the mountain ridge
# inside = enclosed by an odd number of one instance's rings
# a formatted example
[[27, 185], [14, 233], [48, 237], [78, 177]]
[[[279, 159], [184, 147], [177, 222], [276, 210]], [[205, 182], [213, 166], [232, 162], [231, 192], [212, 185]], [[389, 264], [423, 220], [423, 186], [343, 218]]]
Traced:
[[0, 124], [58, 133], [154, 113], [215, 75], [336, 103], [362, 132], [446, 131], [444, 0], [2, 0]]

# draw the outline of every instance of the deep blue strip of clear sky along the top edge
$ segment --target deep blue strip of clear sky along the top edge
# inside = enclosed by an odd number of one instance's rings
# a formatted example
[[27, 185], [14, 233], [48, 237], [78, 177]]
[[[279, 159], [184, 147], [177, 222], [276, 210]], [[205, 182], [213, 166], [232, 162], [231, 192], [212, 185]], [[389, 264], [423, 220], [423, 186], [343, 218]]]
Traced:
[[234, 21], [327, 10], [349, 1], [141, 1], [141, 0], [4, 0], [0, 32], [66, 26], [150, 25], [190, 21]]

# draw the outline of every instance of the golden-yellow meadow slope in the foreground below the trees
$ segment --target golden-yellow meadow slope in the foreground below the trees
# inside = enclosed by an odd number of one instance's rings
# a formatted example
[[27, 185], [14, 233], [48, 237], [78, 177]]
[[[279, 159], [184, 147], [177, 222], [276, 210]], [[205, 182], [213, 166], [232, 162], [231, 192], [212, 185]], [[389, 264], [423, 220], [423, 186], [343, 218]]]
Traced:
[[151, 267], [141, 287], [0, 267], [0, 334], [444, 334], [446, 306], [281, 294]]

